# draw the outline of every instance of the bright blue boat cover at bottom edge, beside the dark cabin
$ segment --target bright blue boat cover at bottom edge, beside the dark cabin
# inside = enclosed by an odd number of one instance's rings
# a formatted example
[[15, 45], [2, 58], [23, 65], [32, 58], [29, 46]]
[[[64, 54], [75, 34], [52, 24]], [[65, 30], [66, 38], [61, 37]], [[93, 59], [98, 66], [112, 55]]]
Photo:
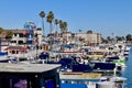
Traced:
[[85, 84], [61, 84], [61, 88], [88, 88]]

